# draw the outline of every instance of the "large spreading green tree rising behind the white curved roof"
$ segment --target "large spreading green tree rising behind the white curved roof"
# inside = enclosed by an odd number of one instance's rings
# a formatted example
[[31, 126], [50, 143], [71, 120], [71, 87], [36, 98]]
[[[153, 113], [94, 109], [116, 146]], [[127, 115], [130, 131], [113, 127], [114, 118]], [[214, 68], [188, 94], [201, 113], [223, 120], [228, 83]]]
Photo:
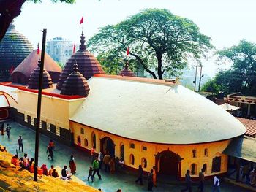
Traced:
[[167, 9], [146, 9], [121, 23], [100, 28], [88, 46], [91, 52], [101, 54], [119, 50], [118, 58], [124, 58], [129, 47], [132, 58], [155, 79], [162, 79], [165, 70], [177, 74], [187, 65], [188, 57], [199, 60], [213, 47], [195, 23]]

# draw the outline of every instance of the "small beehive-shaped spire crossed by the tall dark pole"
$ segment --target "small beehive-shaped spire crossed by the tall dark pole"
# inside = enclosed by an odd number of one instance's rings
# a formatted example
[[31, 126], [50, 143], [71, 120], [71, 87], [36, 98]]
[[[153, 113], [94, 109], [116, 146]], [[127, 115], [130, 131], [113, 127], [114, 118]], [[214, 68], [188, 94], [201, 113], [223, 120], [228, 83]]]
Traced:
[[[39, 74], [40, 74], [40, 63], [38, 61], [38, 67], [34, 69], [34, 72], [31, 73], [29, 77], [29, 86], [31, 89], [38, 89], [39, 85]], [[53, 82], [51, 80], [50, 74], [44, 69], [42, 72], [42, 88], [52, 88]]]

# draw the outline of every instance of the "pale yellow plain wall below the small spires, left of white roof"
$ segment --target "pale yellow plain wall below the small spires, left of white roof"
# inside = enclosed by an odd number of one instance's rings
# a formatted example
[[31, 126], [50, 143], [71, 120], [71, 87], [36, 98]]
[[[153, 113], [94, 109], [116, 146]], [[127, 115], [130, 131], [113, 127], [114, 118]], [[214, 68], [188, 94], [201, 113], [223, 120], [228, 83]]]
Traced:
[[[41, 120], [69, 129], [69, 118], [83, 101], [84, 98], [68, 100], [42, 95]], [[19, 90], [18, 104], [13, 103], [12, 107], [31, 119], [37, 118], [37, 93]]]

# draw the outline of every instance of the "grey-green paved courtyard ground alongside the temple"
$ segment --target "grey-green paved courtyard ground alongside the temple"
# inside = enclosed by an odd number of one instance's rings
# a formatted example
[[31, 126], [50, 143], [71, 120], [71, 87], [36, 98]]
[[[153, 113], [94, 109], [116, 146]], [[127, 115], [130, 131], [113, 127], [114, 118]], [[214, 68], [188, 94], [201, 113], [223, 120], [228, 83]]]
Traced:
[[[7, 122], [6, 122], [7, 123]], [[30, 128], [26, 128], [25, 126], [21, 126], [15, 122], [8, 122], [12, 127], [10, 132], [10, 139], [7, 138], [7, 135], [0, 136], [0, 144], [7, 147], [7, 151], [12, 154], [16, 153], [18, 150], [18, 136], [23, 136], [23, 145], [24, 145], [24, 153], [29, 155], [29, 158], [34, 158], [34, 138], [35, 132]], [[5, 124], [6, 125], [6, 124]], [[69, 156], [71, 154], [75, 155], [75, 162], [77, 165], [77, 173], [76, 177], [83, 180], [87, 185], [91, 185], [94, 188], [101, 188], [102, 191], [113, 192], [118, 188], [121, 188], [122, 191], [146, 191], [146, 180], [144, 181], [144, 185], [136, 185], [135, 179], [136, 175], [131, 173], [118, 172], [115, 174], [106, 174], [105, 172], [100, 172], [102, 174], [102, 180], [96, 179], [94, 183], [87, 181], [87, 175], [89, 166], [91, 166], [89, 161], [89, 155], [85, 152], [75, 149], [74, 147], [68, 147], [66, 145], [62, 145], [58, 142], [55, 142], [55, 151], [54, 151], [54, 160], [50, 161], [47, 158], [47, 146], [50, 138], [45, 137], [44, 135], [40, 135], [39, 142], [39, 166], [42, 164], [47, 164], [48, 168], [50, 165], [54, 166], [64, 166], [67, 165], [69, 167]], [[18, 152], [19, 156], [23, 156], [23, 153]], [[206, 183], [206, 192], [211, 192], [212, 185], [211, 181]], [[181, 191], [181, 188], [184, 188], [182, 185], [170, 185], [168, 183], [157, 183], [157, 188], [153, 188], [154, 191]], [[197, 191], [197, 186], [195, 185], [192, 191]], [[229, 183], [225, 183], [221, 181], [221, 191], [222, 192], [246, 192], [243, 188], [238, 188], [235, 185], [231, 185]]]

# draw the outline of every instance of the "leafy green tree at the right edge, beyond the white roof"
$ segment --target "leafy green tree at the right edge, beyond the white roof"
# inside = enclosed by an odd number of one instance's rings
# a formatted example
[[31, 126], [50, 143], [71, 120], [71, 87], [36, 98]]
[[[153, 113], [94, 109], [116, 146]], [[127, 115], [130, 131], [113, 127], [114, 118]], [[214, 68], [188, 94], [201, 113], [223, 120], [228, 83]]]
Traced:
[[231, 62], [227, 71], [222, 71], [203, 86], [204, 91], [217, 93], [241, 92], [256, 95], [256, 45], [242, 40], [238, 45], [217, 51], [219, 61]]

